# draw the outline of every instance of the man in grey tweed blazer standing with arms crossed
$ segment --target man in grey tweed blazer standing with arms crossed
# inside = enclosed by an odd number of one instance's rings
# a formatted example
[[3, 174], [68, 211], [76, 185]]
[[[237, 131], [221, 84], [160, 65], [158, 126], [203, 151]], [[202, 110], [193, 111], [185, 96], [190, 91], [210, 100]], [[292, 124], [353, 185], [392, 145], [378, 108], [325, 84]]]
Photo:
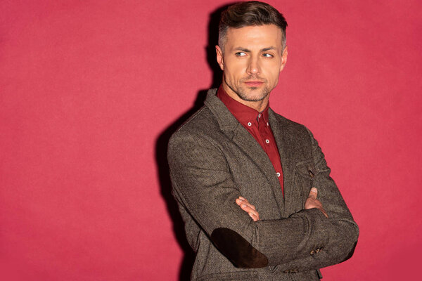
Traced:
[[169, 143], [173, 193], [196, 251], [192, 280], [319, 280], [359, 228], [324, 155], [269, 108], [286, 65], [286, 20], [262, 2], [222, 13], [222, 86]]

